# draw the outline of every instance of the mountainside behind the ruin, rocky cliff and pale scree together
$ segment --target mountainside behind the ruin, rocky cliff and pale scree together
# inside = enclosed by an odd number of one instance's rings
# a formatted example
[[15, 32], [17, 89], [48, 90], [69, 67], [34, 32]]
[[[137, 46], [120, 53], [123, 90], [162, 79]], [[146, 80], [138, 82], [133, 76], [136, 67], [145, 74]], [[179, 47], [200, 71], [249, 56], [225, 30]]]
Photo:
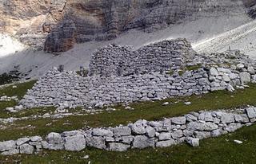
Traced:
[[254, 0], [6, 0], [0, 2], [0, 72], [42, 76], [58, 64], [88, 67], [115, 43], [135, 49], [185, 37], [200, 53], [254, 57]]

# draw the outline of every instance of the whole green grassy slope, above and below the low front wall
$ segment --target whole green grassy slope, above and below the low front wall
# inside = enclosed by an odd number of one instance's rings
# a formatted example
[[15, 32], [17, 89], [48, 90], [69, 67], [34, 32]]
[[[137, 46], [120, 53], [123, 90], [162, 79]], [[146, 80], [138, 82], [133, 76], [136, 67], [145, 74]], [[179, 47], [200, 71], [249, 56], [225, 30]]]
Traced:
[[[26, 89], [31, 88], [34, 82], [20, 84], [18, 88], [0, 89], [0, 95], [22, 96]], [[6, 130], [0, 131], [0, 140], [17, 139], [24, 135], [46, 135], [50, 131], [66, 131], [78, 129], [85, 124], [91, 127], [114, 126], [119, 123], [126, 124], [137, 119], [162, 119], [175, 115], [186, 114], [189, 111], [202, 109], [219, 109], [242, 107], [247, 104], [256, 105], [256, 85], [250, 88], [238, 90], [235, 93], [213, 92], [203, 96], [190, 96], [177, 99], [168, 99], [157, 102], [134, 103], [131, 106], [134, 111], [126, 111], [122, 107], [117, 107], [118, 111], [111, 114], [104, 112], [98, 115], [70, 116], [64, 119], [50, 120], [38, 119], [19, 121], [11, 125]], [[192, 102], [186, 106], [183, 102]], [[163, 102], [172, 102], [172, 105], [162, 106]], [[179, 101], [179, 103], [174, 103]], [[0, 103], [0, 107], [2, 107]], [[26, 115], [40, 113], [42, 109], [23, 111]], [[46, 109], [47, 111], [47, 109]], [[1, 111], [0, 113], [4, 113]], [[17, 114], [16, 114], [17, 115]], [[18, 114], [19, 115], [19, 114]], [[23, 115], [25, 115], [23, 113]], [[79, 120], [79, 121], [78, 121]], [[71, 125], [63, 126], [63, 123]], [[46, 127], [47, 123], [52, 123]], [[28, 124], [34, 129], [26, 127]], [[233, 142], [234, 139], [244, 141], [242, 145]], [[0, 163], [254, 163], [256, 156], [256, 126], [243, 127], [241, 130], [231, 135], [225, 135], [217, 139], [203, 140], [200, 147], [192, 148], [186, 144], [168, 147], [165, 149], [129, 150], [124, 153], [107, 152], [104, 150], [88, 149], [82, 152], [67, 151], [43, 151], [37, 155], [17, 155], [12, 157], [0, 156]], [[90, 159], [82, 159], [86, 154]]]

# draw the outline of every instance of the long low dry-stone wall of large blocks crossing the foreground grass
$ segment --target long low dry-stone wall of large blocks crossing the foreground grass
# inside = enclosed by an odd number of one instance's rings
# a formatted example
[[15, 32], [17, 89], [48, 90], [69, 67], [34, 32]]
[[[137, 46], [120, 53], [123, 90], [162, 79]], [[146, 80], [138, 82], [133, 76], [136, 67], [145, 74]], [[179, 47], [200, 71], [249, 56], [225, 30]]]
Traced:
[[33, 154], [42, 149], [80, 151], [86, 147], [125, 151], [146, 147], [166, 147], [187, 142], [198, 146], [199, 139], [234, 132], [256, 122], [256, 107], [230, 111], [199, 111], [161, 121], [138, 120], [127, 126], [92, 128], [50, 133], [0, 142], [2, 155]]

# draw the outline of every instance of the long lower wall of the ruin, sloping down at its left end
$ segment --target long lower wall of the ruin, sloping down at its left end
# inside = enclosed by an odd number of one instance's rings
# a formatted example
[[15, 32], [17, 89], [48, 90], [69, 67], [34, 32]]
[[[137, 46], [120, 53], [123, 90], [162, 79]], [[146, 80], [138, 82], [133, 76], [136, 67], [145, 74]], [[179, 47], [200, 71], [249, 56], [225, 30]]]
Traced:
[[255, 82], [255, 69], [238, 64], [231, 68], [210, 66], [179, 75], [151, 72], [133, 76], [89, 76], [54, 69], [42, 76], [19, 102], [23, 107], [103, 107], [115, 103], [162, 100], [199, 95]]

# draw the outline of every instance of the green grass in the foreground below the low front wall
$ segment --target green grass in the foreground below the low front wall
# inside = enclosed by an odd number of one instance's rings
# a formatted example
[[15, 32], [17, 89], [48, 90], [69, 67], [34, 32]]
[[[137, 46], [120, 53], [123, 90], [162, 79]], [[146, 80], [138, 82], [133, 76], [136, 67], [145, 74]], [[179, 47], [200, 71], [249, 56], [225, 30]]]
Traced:
[[[234, 139], [242, 144], [234, 143]], [[88, 159], [83, 159], [89, 155]], [[256, 125], [243, 127], [229, 135], [200, 141], [200, 146], [191, 147], [180, 144], [167, 148], [148, 148], [110, 152], [87, 148], [81, 152], [44, 150], [34, 155], [0, 156], [6, 163], [104, 163], [104, 164], [137, 164], [137, 163], [255, 163], [256, 158]]]

